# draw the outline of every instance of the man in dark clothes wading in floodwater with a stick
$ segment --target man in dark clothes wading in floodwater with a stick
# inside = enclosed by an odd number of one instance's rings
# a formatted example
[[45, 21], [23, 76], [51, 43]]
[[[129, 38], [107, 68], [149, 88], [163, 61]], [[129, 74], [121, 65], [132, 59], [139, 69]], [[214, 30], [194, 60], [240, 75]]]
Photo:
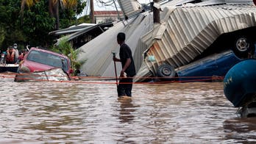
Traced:
[[[135, 72], [135, 65], [132, 58], [132, 51], [129, 48], [129, 46], [127, 46], [127, 44], [124, 43], [124, 41], [125, 41], [125, 34], [123, 32], [118, 33], [117, 42], [120, 45], [120, 50], [119, 50], [120, 59], [113, 57], [113, 60], [115, 62], [121, 62], [121, 65], [122, 65], [122, 70], [120, 73], [121, 79], [119, 80], [119, 84], [117, 88], [118, 97], [121, 97], [121, 96], [131, 97], [132, 96], [132, 79], [133, 79], [133, 76], [135, 76], [136, 72]], [[126, 73], [126, 76], [125, 76], [125, 73]]]

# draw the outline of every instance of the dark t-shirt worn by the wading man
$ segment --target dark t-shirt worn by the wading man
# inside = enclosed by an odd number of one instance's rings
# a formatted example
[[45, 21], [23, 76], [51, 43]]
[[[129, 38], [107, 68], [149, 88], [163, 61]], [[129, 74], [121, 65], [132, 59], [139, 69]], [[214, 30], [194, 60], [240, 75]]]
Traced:
[[135, 76], [136, 71], [135, 71], [134, 61], [132, 58], [132, 51], [129, 48], [129, 46], [127, 46], [127, 44], [124, 43], [120, 46], [119, 57], [121, 60], [122, 68], [124, 68], [124, 65], [125, 65], [125, 62], [127, 62], [127, 59], [129, 58], [131, 59], [131, 64], [124, 72], [127, 73], [127, 76]]

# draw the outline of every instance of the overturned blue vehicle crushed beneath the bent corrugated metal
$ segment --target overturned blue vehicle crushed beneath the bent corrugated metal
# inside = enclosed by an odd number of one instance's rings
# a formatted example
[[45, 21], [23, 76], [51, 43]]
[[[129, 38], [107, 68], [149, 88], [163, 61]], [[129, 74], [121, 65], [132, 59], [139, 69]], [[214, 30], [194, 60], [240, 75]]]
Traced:
[[[238, 62], [243, 61], [233, 51], [212, 54], [188, 65], [174, 68], [171, 65], [160, 65], [157, 69], [158, 80], [178, 82], [212, 82], [224, 79], [227, 71]], [[239, 73], [239, 71], [238, 71]]]

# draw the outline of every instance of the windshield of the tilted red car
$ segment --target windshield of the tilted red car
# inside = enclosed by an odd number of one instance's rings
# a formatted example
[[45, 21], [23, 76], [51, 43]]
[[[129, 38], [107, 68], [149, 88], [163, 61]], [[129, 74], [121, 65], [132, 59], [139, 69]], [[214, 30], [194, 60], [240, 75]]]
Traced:
[[27, 60], [42, 63], [44, 65], [51, 65], [57, 68], [63, 68], [63, 70], [68, 71], [68, 60], [44, 51], [30, 51], [27, 56]]

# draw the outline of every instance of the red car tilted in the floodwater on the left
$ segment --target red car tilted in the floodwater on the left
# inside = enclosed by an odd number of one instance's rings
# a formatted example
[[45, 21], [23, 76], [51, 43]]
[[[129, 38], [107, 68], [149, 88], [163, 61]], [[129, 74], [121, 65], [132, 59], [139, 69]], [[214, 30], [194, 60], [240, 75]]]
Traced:
[[[20, 63], [18, 73], [46, 71], [51, 68], [63, 68], [68, 76], [73, 73], [71, 60], [63, 54], [58, 54], [43, 48], [30, 48]], [[28, 70], [29, 71], [24, 71]]]

